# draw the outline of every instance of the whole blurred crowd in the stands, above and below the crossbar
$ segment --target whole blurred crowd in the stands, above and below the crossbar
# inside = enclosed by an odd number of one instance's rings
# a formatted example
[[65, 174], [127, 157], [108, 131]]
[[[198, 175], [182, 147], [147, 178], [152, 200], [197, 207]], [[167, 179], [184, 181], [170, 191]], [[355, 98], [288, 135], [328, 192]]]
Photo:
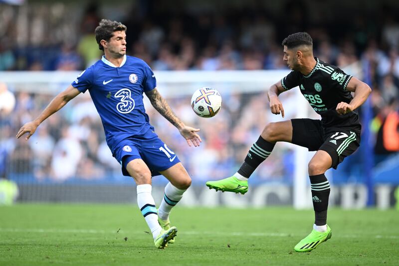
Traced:
[[[161, 7], [154, 7], [157, 1], [137, 2], [140, 6], [135, 5], [129, 15], [122, 17], [108, 10], [128, 27], [128, 54], [142, 58], [155, 71], [286, 69], [282, 39], [296, 31], [309, 32], [315, 56], [341, 68], [359, 70], [363, 73], [361, 78], [371, 84], [373, 117], [370, 125], [364, 127], [370, 127], [374, 136], [376, 163], [398, 153], [399, 6], [375, 10], [374, 20], [361, 14], [345, 16], [350, 10], [342, 10], [340, 21], [325, 15], [325, 22], [321, 18], [312, 23], [307, 19], [309, 10], [301, 1], [287, 1], [281, 17], [256, 4], [223, 12], [184, 12], [178, 7], [174, 12], [162, 12]], [[73, 6], [68, 8], [76, 10]], [[20, 10], [10, 6], [0, 9], [0, 71], [82, 70], [98, 60], [102, 51], [95, 41], [94, 29], [106, 12], [96, 4], [88, 4], [81, 14], [68, 8], [55, 3], [33, 6], [29, 15], [34, 27], [27, 30], [25, 38], [17, 33], [18, 23], [12, 16]], [[77, 22], [63, 23], [55, 17]], [[13, 115], [0, 118], [0, 175], [22, 171], [33, 172], [37, 179], [57, 180], [120, 175], [120, 165], [110, 155], [101, 121], [88, 99], [82, 97], [68, 104], [62, 115], [50, 117], [25, 142], [13, 139], [16, 130], [37, 116], [53, 95], [15, 95]], [[168, 134], [161, 137], [174, 146], [191, 173], [202, 179], [233, 173], [268, 121], [264, 95], [223, 96], [224, 111], [214, 118], [214, 126], [202, 127], [203, 121], [187, 110], [188, 99], [168, 100], [185, 121], [201, 128], [206, 140], [202, 147], [195, 152], [188, 149], [179, 132], [155, 111], [150, 112], [151, 122], [156, 129], [170, 129], [162, 130]], [[257, 171], [260, 179], [291, 175], [292, 165], [286, 164], [292, 160], [286, 156], [292, 156], [292, 151], [281, 147], [274, 154]], [[6, 165], [11, 167], [5, 169]]]

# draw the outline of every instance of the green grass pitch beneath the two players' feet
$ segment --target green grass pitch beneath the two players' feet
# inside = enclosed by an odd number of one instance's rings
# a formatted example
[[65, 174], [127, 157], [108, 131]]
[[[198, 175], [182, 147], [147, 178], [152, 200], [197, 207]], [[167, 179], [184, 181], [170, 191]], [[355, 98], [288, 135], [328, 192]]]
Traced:
[[136, 205], [19, 204], [0, 207], [0, 265], [398, 265], [397, 211], [332, 209], [331, 240], [296, 253], [312, 218], [291, 208], [177, 207], [176, 243], [157, 250]]

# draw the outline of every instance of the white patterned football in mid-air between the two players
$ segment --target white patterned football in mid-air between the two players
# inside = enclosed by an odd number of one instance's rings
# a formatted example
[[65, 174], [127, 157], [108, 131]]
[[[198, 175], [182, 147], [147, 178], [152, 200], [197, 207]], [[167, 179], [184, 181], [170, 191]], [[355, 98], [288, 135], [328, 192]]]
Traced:
[[191, 107], [200, 117], [215, 116], [221, 108], [220, 93], [212, 88], [200, 88], [191, 97]]

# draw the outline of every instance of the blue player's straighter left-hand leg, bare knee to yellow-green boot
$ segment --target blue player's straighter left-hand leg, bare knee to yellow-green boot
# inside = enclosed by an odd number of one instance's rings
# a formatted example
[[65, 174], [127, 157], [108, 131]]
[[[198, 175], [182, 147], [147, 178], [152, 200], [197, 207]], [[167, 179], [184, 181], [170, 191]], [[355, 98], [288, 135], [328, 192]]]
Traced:
[[163, 230], [158, 223], [157, 208], [151, 195], [151, 172], [142, 159], [125, 157], [122, 162], [137, 184], [137, 204], [153, 235], [155, 247], [165, 249], [177, 234], [176, 227]]

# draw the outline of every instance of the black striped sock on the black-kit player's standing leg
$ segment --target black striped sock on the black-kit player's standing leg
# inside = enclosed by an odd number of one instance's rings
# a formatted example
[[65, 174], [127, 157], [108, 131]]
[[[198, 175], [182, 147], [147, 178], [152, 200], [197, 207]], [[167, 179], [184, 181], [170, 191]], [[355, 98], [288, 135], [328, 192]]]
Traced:
[[309, 176], [312, 190], [313, 209], [315, 210], [315, 225], [327, 224], [328, 198], [330, 196], [330, 183], [324, 174]]

